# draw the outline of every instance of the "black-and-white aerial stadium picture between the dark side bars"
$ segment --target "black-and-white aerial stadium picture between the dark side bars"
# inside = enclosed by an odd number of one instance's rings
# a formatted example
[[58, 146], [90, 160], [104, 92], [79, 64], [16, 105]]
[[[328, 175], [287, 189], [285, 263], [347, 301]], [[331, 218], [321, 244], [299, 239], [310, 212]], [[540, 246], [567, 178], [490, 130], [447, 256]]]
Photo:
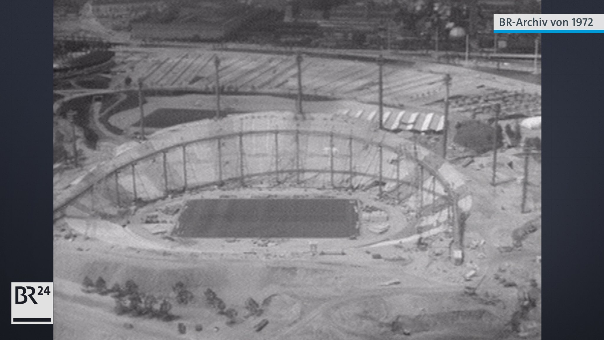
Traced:
[[54, 339], [541, 339], [541, 0], [53, 10]]

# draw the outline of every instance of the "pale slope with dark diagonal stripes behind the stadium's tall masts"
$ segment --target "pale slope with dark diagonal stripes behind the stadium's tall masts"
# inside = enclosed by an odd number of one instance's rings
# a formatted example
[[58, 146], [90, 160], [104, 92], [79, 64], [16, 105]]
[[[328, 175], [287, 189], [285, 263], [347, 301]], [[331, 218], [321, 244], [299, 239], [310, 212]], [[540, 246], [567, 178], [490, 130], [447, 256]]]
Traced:
[[[134, 79], [141, 78], [149, 86], [182, 87], [193, 85], [213, 89], [216, 75], [214, 55], [221, 60], [220, 85], [239, 91], [297, 91], [297, 66], [294, 56], [271, 56], [230, 53], [181, 53], [169, 56], [158, 52], [137, 64]], [[141, 54], [142, 56], [142, 54]], [[128, 55], [135, 60], [135, 54]], [[334, 63], [315, 57], [303, 60], [303, 91], [307, 94], [328, 94], [338, 98], [375, 101], [376, 69], [367, 63], [342, 61]], [[395, 70], [385, 75], [384, 100], [393, 104], [414, 98], [428, 98], [442, 91], [439, 74], [411, 69]]]

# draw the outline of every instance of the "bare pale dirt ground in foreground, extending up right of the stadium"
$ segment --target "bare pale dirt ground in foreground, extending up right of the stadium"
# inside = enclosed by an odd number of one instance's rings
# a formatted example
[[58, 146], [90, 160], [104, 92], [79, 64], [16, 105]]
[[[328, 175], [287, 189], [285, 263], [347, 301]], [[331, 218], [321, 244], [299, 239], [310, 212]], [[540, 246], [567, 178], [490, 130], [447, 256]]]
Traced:
[[[513, 159], [513, 151], [501, 157]], [[531, 167], [533, 211], [520, 214], [519, 181], [491, 187], [488, 162], [485, 155], [458, 167], [470, 179], [475, 202], [466, 223], [466, 262], [459, 267], [439, 251], [438, 239], [426, 251], [410, 244], [315, 256], [294, 252], [301, 248], [294, 241], [276, 242], [270, 249], [249, 242], [256, 254], [245, 255], [228, 251], [230, 240], [198, 240], [191, 248], [201, 252], [183, 252], [120, 246], [82, 234], [65, 239], [69, 229], [62, 231], [57, 223], [55, 338], [513, 339], [509, 321], [518, 287], [530, 279], [541, 287], [541, 229], [521, 248], [499, 249], [512, 248], [513, 229], [539, 216], [541, 165], [533, 162]], [[411, 260], [376, 260], [371, 254]], [[464, 280], [472, 270], [477, 274]], [[171, 287], [182, 281], [194, 298], [187, 305], [173, 303], [172, 312], [179, 316], [174, 321], [118, 316], [111, 297], [82, 291], [86, 276], [103, 277], [108, 286], [134, 280], [141, 291], [168, 298], [174, 295]], [[501, 278], [515, 286], [505, 286]], [[478, 284], [476, 296], [463, 294], [464, 286]], [[203, 293], [208, 288], [237, 310], [236, 324], [227, 326], [226, 317], [208, 306]], [[263, 315], [243, 318], [249, 297], [259, 303], [272, 298]], [[392, 331], [390, 324], [398, 316], [411, 335]], [[254, 325], [264, 318], [269, 324], [255, 332]], [[185, 335], [179, 335], [178, 322], [187, 327]], [[200, 332], [194, 330], [197, 324], [203, 326]]]

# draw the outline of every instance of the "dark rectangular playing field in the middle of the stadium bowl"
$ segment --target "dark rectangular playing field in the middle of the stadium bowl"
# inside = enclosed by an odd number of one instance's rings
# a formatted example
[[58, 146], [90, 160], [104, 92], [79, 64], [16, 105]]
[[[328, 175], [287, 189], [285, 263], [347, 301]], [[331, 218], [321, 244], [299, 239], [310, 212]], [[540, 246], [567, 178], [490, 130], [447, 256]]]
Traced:
[[357, 233], [355, 200], [189, 200], [174, 233], [181, 237], [336, 238]]

